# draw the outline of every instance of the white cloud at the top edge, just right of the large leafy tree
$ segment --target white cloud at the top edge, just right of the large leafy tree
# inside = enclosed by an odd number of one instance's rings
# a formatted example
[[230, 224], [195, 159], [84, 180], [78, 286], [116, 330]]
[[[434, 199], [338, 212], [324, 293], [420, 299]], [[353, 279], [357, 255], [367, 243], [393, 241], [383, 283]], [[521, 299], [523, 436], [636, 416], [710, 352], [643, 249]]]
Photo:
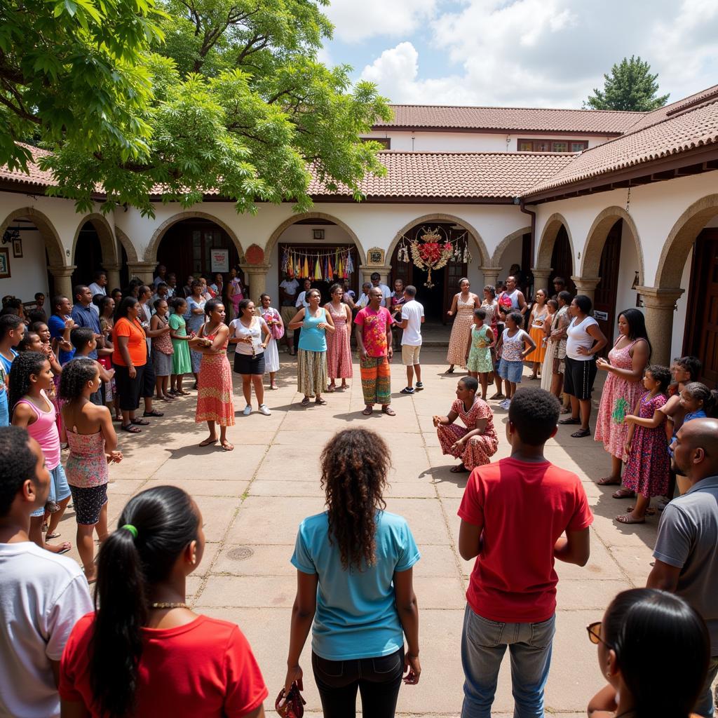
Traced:
[[437, 0], [332, 0], [325, 13], [335, 37], [360, 42], [370, 37], [402, 37], [432, 17]]

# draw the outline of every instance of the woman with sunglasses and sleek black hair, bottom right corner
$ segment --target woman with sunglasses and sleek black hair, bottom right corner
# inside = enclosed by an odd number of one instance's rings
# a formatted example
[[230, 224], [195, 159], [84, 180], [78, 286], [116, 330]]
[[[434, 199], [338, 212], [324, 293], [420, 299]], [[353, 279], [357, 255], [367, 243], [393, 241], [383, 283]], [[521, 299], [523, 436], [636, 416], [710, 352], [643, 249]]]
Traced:
[[[589, 718], [699, 718], [692, 711], [704, 689], [710, 641], [703, 619], [682, 598], [623, 591], [603, 620], [586, 628], [608, 681], [589, 702]], [[661, 676], [669, 675], [662, 689]]]

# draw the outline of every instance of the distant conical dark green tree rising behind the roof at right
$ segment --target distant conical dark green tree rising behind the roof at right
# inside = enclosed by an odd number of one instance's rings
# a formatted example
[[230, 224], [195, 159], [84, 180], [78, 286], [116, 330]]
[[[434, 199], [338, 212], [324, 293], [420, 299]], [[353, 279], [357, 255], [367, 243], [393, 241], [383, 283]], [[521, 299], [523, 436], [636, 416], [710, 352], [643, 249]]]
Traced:
[[610, 75], [603, 75], [603, 90], [594, 88], [584, 102], [592, 110], [633, 110], [649, 112], [663, 107], [669, 95], [656, 96], [658, 75], [651, 75], [651, 65], [640, 57], [624, 57], [611, 67]]

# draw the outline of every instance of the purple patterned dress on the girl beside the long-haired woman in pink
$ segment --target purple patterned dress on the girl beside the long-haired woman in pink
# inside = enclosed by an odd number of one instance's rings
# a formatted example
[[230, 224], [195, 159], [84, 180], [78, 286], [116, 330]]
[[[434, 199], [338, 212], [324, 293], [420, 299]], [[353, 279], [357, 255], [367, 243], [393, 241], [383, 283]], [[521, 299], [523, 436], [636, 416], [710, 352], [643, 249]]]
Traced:
[[[638, 416], [652, 419], [653, 414], [666, 404], [666, 396], [656, 394], [650, 398], [645, 392], [640, 398]], [[651, 498], [668, 493], [668, 439], [666, 439], [666, 416], [655, 429], [636, 426], [631, 442], [630, 457], [623, 472], [623, 486]]]

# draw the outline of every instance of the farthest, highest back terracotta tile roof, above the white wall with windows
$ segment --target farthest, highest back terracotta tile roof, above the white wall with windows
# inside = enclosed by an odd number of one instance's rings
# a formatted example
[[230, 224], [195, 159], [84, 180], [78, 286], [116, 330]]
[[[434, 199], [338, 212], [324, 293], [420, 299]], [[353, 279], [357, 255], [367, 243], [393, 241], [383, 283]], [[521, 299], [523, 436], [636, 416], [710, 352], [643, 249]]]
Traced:
[[426, 127], [497, 131], [621, 134], [643, 118], [643, 112], [612, 110], [551, 110], [518, 107], [450, 107], [392, 105], [394, 117], [375, 129]]

